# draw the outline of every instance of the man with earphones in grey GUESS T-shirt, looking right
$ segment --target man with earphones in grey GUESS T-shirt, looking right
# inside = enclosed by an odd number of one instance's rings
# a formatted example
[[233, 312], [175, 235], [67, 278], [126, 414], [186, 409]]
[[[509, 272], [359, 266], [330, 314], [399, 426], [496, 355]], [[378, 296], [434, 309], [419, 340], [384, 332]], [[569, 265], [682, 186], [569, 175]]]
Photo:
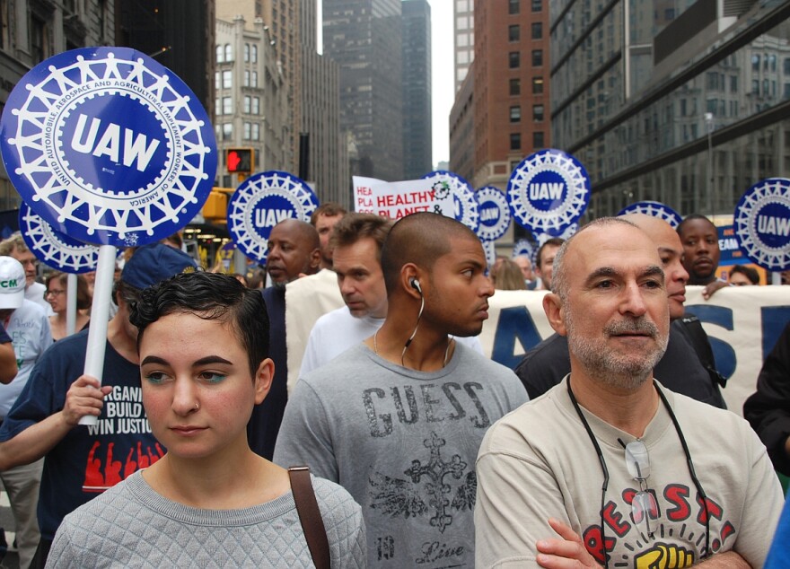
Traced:
[[387, 235], [382, 271], [382, 327], [296, 383], [275, 462], [346, 487], [371, 567], [471, 567], [478, 447], [527, 399], [513, 372], [450, 336], [488, 318], [486, 256], [461, 223], [412, 214]]

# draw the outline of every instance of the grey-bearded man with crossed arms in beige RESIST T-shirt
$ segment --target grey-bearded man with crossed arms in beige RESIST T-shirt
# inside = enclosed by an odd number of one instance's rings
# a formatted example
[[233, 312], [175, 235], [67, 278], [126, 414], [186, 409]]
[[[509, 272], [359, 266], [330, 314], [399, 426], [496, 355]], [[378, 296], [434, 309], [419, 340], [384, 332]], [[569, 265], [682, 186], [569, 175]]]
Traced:
[[479, 569], [765, 563], [783, 503], [765, 447], [741, 417], [654, 378], [670, 327], [663, 264], [618, 218], [557, 252], [543, 310], [571, 371], [486, 433]]

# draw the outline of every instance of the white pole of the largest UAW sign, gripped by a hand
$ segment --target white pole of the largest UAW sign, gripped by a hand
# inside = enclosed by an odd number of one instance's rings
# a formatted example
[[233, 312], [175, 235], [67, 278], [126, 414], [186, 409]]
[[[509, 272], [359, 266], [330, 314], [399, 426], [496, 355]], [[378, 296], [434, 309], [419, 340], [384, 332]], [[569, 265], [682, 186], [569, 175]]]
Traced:
[[[104, 370], [104, 350], [107, 347], [107, 321], [110, 318], [110, 295], [115, 276], [115, 258], [118, 250], [114, 245], [99, 247], [99, 264], [96, 267], [96, 282], [93, 284], [91, 326], [88, 328], [88, 347], [85, 350], [84, 374], [99, 380]], [[99, 417], [86, 415], [80, 425], [96, 425]]]

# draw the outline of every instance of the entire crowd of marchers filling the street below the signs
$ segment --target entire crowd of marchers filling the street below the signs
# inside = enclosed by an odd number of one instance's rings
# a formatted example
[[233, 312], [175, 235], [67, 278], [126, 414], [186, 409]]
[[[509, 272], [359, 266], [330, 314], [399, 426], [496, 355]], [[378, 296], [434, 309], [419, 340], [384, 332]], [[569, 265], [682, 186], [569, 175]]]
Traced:
[[[689, 284], [759, 284], [719, 276], [719, 255], [701, 215], [676, 231], [630, 214], [489, 272], [450, 218], [327, 204], [276, 224], [262, 274], [137, 248], [100, 383], [83, 372], [91, 283], [69, 334], [66, 275], [40, 284], [13, 236], [0, 478], [20, 566], [787, 566], [790, 323], [744, 421], [684, 306]], [[289, 394], [286, 290], [306, 276], [344, 306]], [[513, 370], [477, 337], [496, 289], [543, 291], [555, 331]]]

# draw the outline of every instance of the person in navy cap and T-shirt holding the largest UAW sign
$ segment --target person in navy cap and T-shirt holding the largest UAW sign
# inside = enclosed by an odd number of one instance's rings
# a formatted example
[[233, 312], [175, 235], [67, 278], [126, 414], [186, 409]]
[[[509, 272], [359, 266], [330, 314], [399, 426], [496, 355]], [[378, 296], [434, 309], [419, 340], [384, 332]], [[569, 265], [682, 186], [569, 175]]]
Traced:
[[[83, 374], [88, 343], [84, 330], [48, 349], [5, 417], [0, 427], [0, 470], [46, 457], [38, 510], [41, 540], [34, 567], [44, 566], [67, 513], [164, 454], [141, 402], [137, 330], [129, 323], [129, 307], [139, 301], [144, 288], [194, 269], [189, 255], [167, 245], [136, 249], [115, 285], [118, 312], [107, 327], [101, 387]], [[86, 415], [98, 416], [99, 421], [77, 426]]]

